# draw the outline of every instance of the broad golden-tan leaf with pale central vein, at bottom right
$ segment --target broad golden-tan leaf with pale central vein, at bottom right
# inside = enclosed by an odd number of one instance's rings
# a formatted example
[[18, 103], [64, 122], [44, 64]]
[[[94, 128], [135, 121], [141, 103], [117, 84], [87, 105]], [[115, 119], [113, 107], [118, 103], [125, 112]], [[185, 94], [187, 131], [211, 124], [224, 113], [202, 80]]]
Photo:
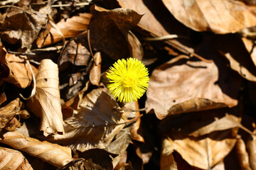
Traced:
[[210, 169], [222, 161], [235, 146], [236, 139], [230, 136], [231, 130], [213, 132], [202, 138], [186, 137], [172, 133], [166, 147], [173, 148], [191, 166]]

